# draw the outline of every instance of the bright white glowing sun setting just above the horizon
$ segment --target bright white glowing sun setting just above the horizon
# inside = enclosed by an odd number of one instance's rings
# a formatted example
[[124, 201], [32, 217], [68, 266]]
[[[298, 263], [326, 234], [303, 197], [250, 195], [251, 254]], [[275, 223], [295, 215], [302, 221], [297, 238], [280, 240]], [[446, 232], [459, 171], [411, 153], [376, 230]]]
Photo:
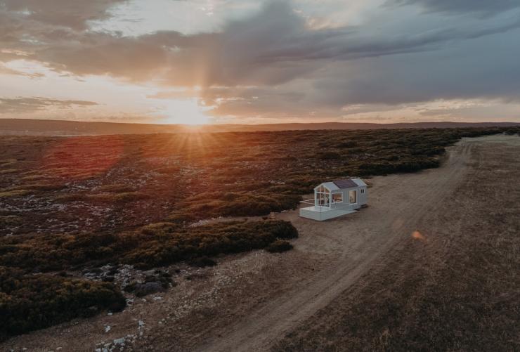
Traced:
[[164, 115], [165, 124], [209, 124], [207, 111], [212, 107], [199, 104], [197, 98], [183, 100], [169, 100], [161, 115]]

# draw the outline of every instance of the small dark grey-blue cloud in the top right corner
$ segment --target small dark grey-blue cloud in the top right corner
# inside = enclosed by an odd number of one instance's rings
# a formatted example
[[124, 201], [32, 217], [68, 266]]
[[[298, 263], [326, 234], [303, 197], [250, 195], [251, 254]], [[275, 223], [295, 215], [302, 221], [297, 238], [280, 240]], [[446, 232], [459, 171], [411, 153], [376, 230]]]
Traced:
[[389, 0], [389, 4], [420, 5], [427, 11], [441, 13], [477, 13], [495, 15], [513, 8], [520, 8], [518, 0]]

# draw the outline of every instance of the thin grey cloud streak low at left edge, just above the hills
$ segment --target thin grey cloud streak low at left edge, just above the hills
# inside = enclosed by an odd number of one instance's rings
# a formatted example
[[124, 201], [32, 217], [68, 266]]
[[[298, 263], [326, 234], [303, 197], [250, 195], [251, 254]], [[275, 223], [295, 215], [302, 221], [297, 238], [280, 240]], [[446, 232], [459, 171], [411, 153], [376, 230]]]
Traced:
[[22, 114], [48, 108], [67, 109], [98, 105], [93, 101], [59, 100], [43, 97], [0, 98], [0, 114]]

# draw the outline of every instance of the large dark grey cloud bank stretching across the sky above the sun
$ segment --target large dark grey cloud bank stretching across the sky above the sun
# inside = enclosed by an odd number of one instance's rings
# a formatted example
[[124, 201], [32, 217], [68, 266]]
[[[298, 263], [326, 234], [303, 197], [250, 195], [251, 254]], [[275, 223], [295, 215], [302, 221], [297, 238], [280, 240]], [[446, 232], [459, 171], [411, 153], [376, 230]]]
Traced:
[[122, 37], [86, 32], [74, 40], [35, 45], [33, 58], [74, 74], [109, 74], [138, 82], [159, 79], [171, 86], [272, 86], [306, 77], [337, 60], [431, 51], [516, 27], [520, 20], [368, 37], [360, 27], [313, 30], [282, 1], [230, 22], [218, 33], [165, 31]]

